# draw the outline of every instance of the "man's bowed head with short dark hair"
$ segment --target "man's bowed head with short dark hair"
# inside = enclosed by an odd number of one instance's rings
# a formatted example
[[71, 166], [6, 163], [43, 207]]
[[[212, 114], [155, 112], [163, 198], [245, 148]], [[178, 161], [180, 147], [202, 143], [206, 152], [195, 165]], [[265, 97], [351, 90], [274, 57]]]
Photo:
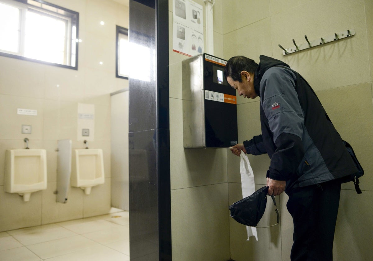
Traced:
[[254, 72], [258, 64], [245, 56], [235, 56], [225, 65], [224, 75], [229, 85], [245, 98], [258, 96], [254, 89]]

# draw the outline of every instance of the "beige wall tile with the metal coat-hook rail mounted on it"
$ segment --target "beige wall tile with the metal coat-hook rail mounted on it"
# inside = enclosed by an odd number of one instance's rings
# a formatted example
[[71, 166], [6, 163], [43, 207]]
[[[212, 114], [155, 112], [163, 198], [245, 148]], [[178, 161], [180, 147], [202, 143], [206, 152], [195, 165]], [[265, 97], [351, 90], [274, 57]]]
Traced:
[[[307, 10], [307, 11], [306, 11]], [[314, 90], [370, 81], [367, 25], [363, 1], [308, 1], [271, 16], [273, 57], [301, 73]], [[335, 32], [355, 29], [355, 36], [282, 56], [284, 48], [313, 41]]]

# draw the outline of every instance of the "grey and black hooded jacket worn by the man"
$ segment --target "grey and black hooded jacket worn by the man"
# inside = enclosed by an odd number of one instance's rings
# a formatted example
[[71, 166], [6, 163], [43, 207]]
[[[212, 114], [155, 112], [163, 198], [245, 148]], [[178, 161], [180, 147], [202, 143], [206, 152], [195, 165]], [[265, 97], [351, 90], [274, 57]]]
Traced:
[[244, 141], [247, 153], [267, 153], [267, 177], [308, 186], [339, 179], [357, 169], [310, 85], [280, 60], [260, 56], [254, 73], [260, 96], [262, 135]]

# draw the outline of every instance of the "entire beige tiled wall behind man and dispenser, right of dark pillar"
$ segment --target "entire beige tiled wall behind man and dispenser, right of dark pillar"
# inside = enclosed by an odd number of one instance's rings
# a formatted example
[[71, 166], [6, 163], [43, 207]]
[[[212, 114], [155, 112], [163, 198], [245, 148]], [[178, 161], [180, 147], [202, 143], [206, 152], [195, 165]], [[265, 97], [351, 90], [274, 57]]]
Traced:
[[[170, 46], [172, 2], [169, 0]], [[196, 2], [204, 5], [203, 1]], [[264, 54], [288, 63], [317, 92], [333, 124], [352, 144], [364, 167], [362, 195], [356, 194], [352, 183], [342, 185], [335, 260], [368, 260], [372, 256], [372, 17], [370, 0], [217, 0], [214, 5], [214, 55], [224, 59], [244, 55], [258, 61]], [[293, 38], [303, 44], [304, 35], [316, 40], [347, 29], [355, 29], [355, 36], [297, 54], [283, 56], [278, 47], [292, 47]], [[173, 259], [289, 260], [293, 225], [286, 210], [288, 197], [282, 194], [278, 200], [280, 226], [258, 229], [258, 241], [246, 241], [245, 228], [229, 218], [227, 209], [242, 195], [239, 158], [225, 149], [183, 148], [181, 61], [186, 58], [170, 50]], [[238, 122], [239, 141], [260, 133], [258, 98], [238, 98]], [[256, 188], [260, 188], [266, 184], [269, 158], [249, 155], [249, 159]], [[214, 258], [215, 254], [218, 257]]]

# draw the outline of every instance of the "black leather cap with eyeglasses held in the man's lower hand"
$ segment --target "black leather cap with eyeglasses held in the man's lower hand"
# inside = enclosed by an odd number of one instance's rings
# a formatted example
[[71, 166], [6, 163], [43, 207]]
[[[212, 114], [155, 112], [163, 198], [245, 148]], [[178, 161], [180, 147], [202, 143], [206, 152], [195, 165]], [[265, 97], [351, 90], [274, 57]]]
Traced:
[[[256, 227], [260, 219], [263, 217], [264, 211], [266, 210], [267, 193], [268, 187], [263, 187], [258, 189], [250, 196], [247, 196], [246, 198], [233, 203], [229, 206], [231, 217], [233, 217], [234, 220], [236, 220], [238, 223], [244, 224], [246, 226]], [[273, 200], [273, 204], [276, 206], [275, 197], [273, 195], [271, 195], [271, 197]], [[280, 222], [280, 215], [277, 206], [275, 211], [277, 214], [277, 224], [274, 224], [272, 226], [276, 226]]]

